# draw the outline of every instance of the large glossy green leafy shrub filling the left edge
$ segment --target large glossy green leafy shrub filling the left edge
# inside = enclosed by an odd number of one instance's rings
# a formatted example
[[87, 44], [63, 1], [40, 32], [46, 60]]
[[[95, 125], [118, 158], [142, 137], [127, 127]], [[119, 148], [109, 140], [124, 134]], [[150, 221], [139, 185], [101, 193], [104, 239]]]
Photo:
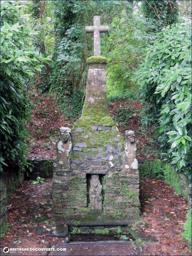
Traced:
[[25, 125], [31, 105], [27, 84], [47, 59], [32, 46], [32, 32], [20, 17], [17, 4], [1, 2], [1, 163], [23, 167], [28, 165]]

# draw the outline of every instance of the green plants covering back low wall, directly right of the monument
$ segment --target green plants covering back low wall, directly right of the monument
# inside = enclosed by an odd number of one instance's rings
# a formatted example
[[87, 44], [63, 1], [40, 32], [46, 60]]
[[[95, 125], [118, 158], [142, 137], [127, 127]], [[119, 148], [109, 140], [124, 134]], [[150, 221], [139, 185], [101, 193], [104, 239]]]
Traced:
[[145, 161], [143, 164], [139, 164], [139, 176], [140, 178], [157, 178], [163, 179], [163, 164], [159, 160]]

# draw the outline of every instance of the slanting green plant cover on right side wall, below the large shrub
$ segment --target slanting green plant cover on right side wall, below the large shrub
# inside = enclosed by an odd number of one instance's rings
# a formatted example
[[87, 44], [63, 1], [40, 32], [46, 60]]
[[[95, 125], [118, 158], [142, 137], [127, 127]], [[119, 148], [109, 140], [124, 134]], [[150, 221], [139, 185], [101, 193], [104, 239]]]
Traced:
[[170, 164], [165, 164], [164, 166], [164, 179], [166, 183], [176, 189], [178, 195], [182, 195], [179, 173], [176, 172]]

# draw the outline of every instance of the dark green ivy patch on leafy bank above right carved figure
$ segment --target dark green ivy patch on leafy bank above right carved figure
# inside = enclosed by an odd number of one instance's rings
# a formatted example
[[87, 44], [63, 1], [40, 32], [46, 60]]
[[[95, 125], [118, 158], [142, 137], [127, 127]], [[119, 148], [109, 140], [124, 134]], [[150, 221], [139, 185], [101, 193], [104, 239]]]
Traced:
[[127, 108], [117, 108], [115, 115], [113, 117], [115, 123], [117, 123], [120, 127], [127, 127], [127, 122], [130, 118], [132, 118], [135, 113], [135, 109], [132, 107]]

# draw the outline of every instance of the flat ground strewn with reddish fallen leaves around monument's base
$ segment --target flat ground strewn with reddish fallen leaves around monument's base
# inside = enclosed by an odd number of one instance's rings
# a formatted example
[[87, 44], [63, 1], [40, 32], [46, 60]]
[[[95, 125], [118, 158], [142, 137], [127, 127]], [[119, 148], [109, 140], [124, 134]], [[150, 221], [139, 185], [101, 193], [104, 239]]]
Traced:
[[[26, 181], [8, 200], [7, 215], [10, 230], [1, 239], [0, 255], [5, 255], [4, 247], [47, 248], [65, 242], [62, 237], [38, 236], [34, 232], [37, 226], [49, 225], [51, 230], [55, 228], [55, 219], [51, 212], [51, 187], [51, 179], [35, 185]], [[141, 179], [140, 202], [141, 220], [133, 225], [132, 229], [158, 240], [145, 243], [142, 246], [142, 255], [191, 255], [190, 245], [181, 235], [186, 221], [186, 201], [175, 194], [171, 186], [162, 180]], [[70, 246], [70, 243], [67, 244], [68, 249]], [[80, 248], [73, 246], [73, 250], [69, 249], [65, 255], [91, 255], [88, 248], [89, 246]], [[118, 245], [116, 248], [109, 246], [103, 249], [96, 246], [96, 249], [101, 250], [100, 255], [138, 255], [132, 245]], [[110, 254], [110, 249], [113, 249], [113, 254]], [[78, 254], [80, 250], [83, 250], [84, 254]], [[12, 254], [6, 253], [6, 255]], [[14, 255], [45, 255], [45, 252], [23, 252]], [[50, 255], [61, 254], [52, 252]]]

